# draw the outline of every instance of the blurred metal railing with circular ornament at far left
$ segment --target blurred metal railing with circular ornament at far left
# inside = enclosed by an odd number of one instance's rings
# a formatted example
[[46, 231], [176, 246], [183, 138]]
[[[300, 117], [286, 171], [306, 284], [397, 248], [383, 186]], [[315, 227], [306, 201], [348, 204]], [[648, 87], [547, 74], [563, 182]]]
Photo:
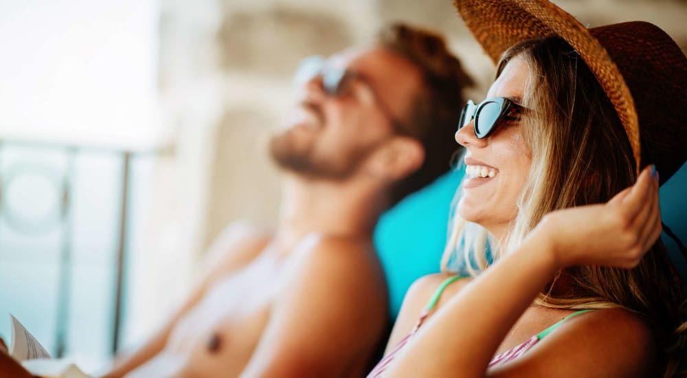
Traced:
[[[35, 162], [12, 162], [10, 166], [3, 168], [0, 164], [0, 219], [5, 221], [8, 227], [12, 227], [15, 232], [20, 233], [36, 233], [41, 230], [49, 229], [50, 227], [61, 226], [62, 240], [60, 245], [59, 269], [58, 269], [58, 289], [56, 301], [56, 357], [63, 357], [65, 349], [67, 348], [67, 339], [69, 333], [69, 317], [70, 317], [70, 302], [72, 298], [73, 287], [71, 286], [71, 276], [73, 268], [73, 241], [74, 241], [74, 182], [76, 179], [75, 161], [80, 155], [88, 153], [107, 153], [115, 156], [121, 164], [121, 173], [118, 179], [119, 183], [119, 214], [116, 222], [116, 245], [113, 246], [115, 251], [115, 274], [113, 287], [113, 309], [114, 314], [111, 324], [111, 352], [114, 354], [120, 347], [122, 334], [122, 320], [124, 318], [124, 299], [126, 293], [124, 292], [124, 282], [126, 280], [126, 267], [128, 260], [127, 241], [130, 234], [129, 230], [129, 213], [130, 213], [130, 198], [133, 184], [132, 164], [142, 157], [155, 157], [160, 151], [127, 151], [124, 149], [106, 148], [98, 146], [78, 146], [71, 144], [57, 144], [57, 143], [43, 143], [43, 142], [24, 142], [24, 141], [10, 141], [0, 140], [0, 163], [3, 159], [3, 151], [8, 146], [13, 150], [27, 148], [32, 151], [38, 149], [39, 151], [57, 151], [67, 155], [67, 166], [63, 170], [61, 177], [58, 177], [56, 190], [58, 190], [57, 197], [60, 199], [58, 216], [56, 216], [56, 223], [49, 224], [45, 220], [31, 220], [25, 219], [21, 214], [16, 213], [16, 205], [10, 204], [8, 201], [8, 188], [12, 182], [26, 173], [34, 175], [46, 175], [50, 180], [55, 181], [56, 175], [59, 173], [51, 170], [49, 166], [36, 164]], [[6, 165], [6, 164], [5, 164]], [[0, 234], [0, 240], [2, 235]], [[105, 330], [104, 330], [105, 331]]]

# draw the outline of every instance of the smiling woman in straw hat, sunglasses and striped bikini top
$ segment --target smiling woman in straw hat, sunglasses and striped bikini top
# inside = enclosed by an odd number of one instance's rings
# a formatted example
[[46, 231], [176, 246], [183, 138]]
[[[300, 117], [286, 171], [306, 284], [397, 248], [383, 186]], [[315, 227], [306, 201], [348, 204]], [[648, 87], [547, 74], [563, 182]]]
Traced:
[[687, 58], [647, 23], [587, 30], [548, 1], [455, 5], [498, 69], [455, 134], [469, 178], [447, 251], [485, 260], [466, 238], [477, 223], [496, 262], [416, 282], [370, 377], [672, 375], [683, 297], [658, 187], [687, 158]]

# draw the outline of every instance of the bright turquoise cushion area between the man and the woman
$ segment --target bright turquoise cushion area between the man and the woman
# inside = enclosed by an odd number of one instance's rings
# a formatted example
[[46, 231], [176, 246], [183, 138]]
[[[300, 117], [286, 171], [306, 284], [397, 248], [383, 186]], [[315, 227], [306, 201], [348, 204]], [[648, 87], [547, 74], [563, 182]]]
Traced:
[[447, 239], [449, 210], [464, 170], [452, 170], [391, 208], [379, 220], [374, 244], [389, 287], [392, 319], [410, 285], [437, 273]]

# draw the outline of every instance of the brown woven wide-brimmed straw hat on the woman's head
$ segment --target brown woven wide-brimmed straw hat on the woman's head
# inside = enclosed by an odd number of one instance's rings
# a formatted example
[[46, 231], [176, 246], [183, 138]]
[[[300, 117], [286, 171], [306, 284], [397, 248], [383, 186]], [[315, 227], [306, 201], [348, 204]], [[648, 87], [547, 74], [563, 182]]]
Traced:
[[453, 0], [497, 63], [521, 41], [560, 36], [585, 60], [616, 108], [638, 172], [655, 164], [661, 184], [687, 160], [687, 58], [651, 23], [587, 29], [546, 0]]

